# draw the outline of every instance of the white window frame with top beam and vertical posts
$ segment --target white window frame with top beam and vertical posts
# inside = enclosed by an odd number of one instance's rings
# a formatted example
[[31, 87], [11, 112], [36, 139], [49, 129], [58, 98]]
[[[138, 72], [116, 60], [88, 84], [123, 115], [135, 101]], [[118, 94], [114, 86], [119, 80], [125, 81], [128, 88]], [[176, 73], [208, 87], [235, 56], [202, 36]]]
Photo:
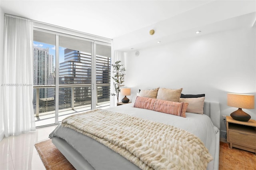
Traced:
[[[55, 35], [55, 46], [56, 46], [56, 54], [55, 54], [55, 65], [56, 65], [56, 77], [59, 76], [59, 37], [65, 36], [69, 38], [74, 38], [78, 40], [84, 40], [91, 42], [92, 47], [92, 83], [91, 83], [91, 90], [92, 90], [92, 101], [91, 101], [91, 109], [96, 109], [97, 104], [97, 82], [96, 82], [96, 45], [106, 45], [111, 47], [111, 55], [110, 60], [112, 57], [112, 40], [108, 38], [102, 38], [99, 36], [94, 36], [74, 30], [69, 30], [66, 28], [58, 27], [58, 26], [52, 26], [50, 24], [44, 24], [40, 22], [34, 22], [33, 30], [39, 31], [39, 32], [45, 32], [49, 34]], [[111, 71], [111, 63], [110, 63], [110, 71]], [[111, 79], [111, 77], [110, 77]], [[110, 84], [110, 83], [109, 83]], [[55, 81], [55, 124], [58, 124], [59, 120], [59, 79], [56, 78]]]

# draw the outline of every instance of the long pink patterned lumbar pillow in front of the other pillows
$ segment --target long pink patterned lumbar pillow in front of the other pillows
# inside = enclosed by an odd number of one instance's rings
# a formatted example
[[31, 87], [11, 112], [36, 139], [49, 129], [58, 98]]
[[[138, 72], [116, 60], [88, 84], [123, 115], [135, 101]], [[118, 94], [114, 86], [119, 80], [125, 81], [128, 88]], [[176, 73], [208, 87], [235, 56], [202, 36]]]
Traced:
[[161, 99], [152, 99], [147, 97], [137, 96], [134, 107], [141, 109], [149, 109], [162, 113], [168, 113], [171, 115], [177, 115], [180, 117], [186, 117], [186, 109], [188, 103], [185, 102], [173, 102]]

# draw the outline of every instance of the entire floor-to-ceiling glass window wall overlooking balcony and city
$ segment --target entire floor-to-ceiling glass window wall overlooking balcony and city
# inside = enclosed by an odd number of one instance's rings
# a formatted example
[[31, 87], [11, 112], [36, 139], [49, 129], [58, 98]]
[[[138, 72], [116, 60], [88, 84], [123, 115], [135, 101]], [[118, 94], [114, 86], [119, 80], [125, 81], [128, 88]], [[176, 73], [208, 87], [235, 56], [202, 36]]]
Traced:
[[[110, 106], [110, 43], [34, 30], [36, 126]], [[56, 67], [57, 65], [57, 67]]]

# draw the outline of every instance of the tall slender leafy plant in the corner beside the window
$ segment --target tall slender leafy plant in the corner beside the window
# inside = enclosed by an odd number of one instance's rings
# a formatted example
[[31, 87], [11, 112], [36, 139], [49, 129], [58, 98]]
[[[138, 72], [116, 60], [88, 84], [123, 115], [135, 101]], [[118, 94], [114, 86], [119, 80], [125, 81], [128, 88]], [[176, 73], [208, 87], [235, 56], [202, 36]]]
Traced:
[[116, 93], [111, 93], [112, 96], [117, 97], [117, 102], [119, 102], [119, 92], [121, 87], [124, 86], [124, 71], [126, 69], [123, 67], [124, 65], [121, 64], [121, 61], [116, 61], [114, 64], [112, 64], [113, 67], [113, 76], [112, 79], [114, 80], [114, 91]]

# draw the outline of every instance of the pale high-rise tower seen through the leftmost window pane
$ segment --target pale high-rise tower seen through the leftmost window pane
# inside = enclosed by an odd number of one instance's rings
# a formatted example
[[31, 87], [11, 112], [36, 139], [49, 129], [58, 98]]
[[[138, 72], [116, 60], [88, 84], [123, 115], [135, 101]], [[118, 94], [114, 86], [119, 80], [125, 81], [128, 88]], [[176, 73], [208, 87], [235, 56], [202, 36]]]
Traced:
[[[33, 54], [33, 83], [34, 85], [48, 85], [48, 77], [53, 73], [53, 55], [49, 48], [34, 47]], [[39, 99], [48, 97], [48, 89], [39, 89]], [[34, 88], [33, 103], [36, 103], [36, 89]]]

